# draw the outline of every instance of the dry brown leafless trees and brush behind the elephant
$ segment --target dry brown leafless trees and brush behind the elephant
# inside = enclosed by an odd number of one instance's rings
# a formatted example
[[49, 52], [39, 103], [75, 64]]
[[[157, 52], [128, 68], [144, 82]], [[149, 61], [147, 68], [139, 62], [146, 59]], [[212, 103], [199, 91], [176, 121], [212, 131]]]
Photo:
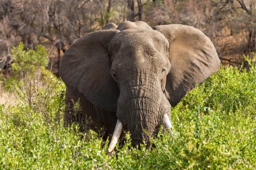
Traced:
[[256, 50], [256, 0], [1, 0], [0, 73], [9, 76], [12, 46], [44, 45], [56, 75], [63, 52], [77, 38], [104, 24], [144, 21], [185, 24], [214, 42], [220, 59], [241, 65]]

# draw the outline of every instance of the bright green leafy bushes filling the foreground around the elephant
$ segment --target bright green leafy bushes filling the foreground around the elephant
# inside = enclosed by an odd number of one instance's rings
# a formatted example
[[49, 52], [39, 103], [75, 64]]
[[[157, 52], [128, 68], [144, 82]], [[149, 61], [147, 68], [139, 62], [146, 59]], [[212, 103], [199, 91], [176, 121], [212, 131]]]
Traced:
[[95, 132], [63, 127], [65, 85], [44, 69], [46, 50], [12, 53], [11, 79], [1, 80], [17, 101], [0, 105], [0, 169], [256, 168], [255, 58], [249, 71], [220, 68], [172, 108], [173, 137], [161, 130], [148, 151], [131, 148], [127, 134], [110, 156]]

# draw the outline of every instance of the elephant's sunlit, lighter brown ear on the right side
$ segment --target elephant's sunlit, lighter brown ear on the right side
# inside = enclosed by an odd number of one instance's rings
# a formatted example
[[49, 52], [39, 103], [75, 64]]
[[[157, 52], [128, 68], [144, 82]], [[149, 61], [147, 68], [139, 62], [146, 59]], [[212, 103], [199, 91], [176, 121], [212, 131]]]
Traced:
[[220, 59], [211, 40], [191, 26], [156, 26], [169, 41], [170, 73], [166, 78], [166, 96], [172, 106], [220, 67]]

